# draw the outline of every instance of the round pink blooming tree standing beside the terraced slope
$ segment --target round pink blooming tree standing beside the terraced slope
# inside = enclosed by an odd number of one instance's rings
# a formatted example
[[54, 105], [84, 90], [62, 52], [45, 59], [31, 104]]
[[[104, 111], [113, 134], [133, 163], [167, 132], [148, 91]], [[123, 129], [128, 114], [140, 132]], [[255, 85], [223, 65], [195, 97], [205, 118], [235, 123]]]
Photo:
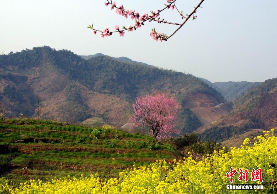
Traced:
[[165, 93], [137, 97], [133, 103], [134, 115], [129, 118], [135, 127], [144, 127], [154, 138], [168, 137], [176, 133], [174, 120], [180, 106], [178, 102]]

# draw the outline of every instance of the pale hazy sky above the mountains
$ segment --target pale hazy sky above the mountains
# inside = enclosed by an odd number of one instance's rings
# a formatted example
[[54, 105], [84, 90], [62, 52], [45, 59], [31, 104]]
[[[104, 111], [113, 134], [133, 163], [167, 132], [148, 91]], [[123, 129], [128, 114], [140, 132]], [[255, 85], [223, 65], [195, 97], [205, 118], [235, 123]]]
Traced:
[[[216, 81], [264, 81], [277, 77], [277, 1], [206, 0], [197, 20], [188, 21], [168, 42], [155, 42], [152, 28], [170, 34], [176, 26], [147, 23], [124, 37], [102, 39], [86, 26], [104, 29], [133, 24], [104, 0], [0, 0], [0, 53], [50, 46], [80, 55], [101, 52], [189, 72]], [[166, 0], [116, 0], [139, 13], [163, 8]], [[178, 0], [188, 14], [198, 0]], [[177, 12], [161, 16], [180, 22]]]

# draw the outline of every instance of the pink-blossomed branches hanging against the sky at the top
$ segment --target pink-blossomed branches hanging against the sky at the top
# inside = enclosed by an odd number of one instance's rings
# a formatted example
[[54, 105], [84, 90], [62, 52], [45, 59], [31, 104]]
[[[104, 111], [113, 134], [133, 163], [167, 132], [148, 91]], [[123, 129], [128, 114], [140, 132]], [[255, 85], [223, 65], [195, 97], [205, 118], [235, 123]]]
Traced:
[[[154, 21], [157, 22], [158, 24], [170, 24], [170, 25], [175, 25], [178, 26], [177, 29], [172, 32], [171, 35], [166, 35], [166, 34], [162, 34], [161, 32], [158, 32], [155, 28], [152, 29], [150, 31], [150, 36], [158, 41], [158, 39], [162, 42], [167, 41], [170, 37], [172, 37], [179, 29], [182, 28], [182, 26], [189, 20], [189, 18], [192, 16], [192, 19], [195, 20], [197, 18], [197, 16], [195, 15], [196, 10], [201, 7], [201, 4], [205, 1], [205, 0], [200, 0], [199, 4], [194, 7], [194, 9], [192, 10], [192, 12], [190, 14], [183, 14], [183, 11], [179, 11], [179, 9], [176, 6], [176, 1], [177, 0], [166, 0], [166, 4], [164, 4], [164, 7], [162, 9], [158, 9], [157, 11], [151, 11], [149, 14], [139, 14], [139, 12], [135, 12], [133, 10], [129, 10], [129, 9], [125, 9], [123, 5], [117, 6], [115, 1], [112, 0], [106, 0], [105, 2], [105, 6], [111, 6], [111, 10], [115, 9], [116, 13], [128, 18], [130, 17], [132, 20], [134, 20], [134, 24], [133, 25], [128, 25], [128, 27], [122, 26], [122, 29], [119, 28], [118, 25], [115, 26], [115, 31], [110, 31], [109, 28], [105, 28], [104, 30], [98, 30], [95, 29], [92, 25], [89, 25], [88, 28], [93, 30], [93, 33], [96, 35], [97, 32], [100, 32], [100, 35], [102, 38], [104, 37], [108, 37], [111, 36], [113, 33], [119, 33], [119, 36], [123, 37], [125, 34], [125, 31], [133, 31], [136, 30], [138, 28], [140, 28], [141, 26], [144, 26], [146, 21]], [[172, 9], [172, 10], [176, 10], [177, 13], [180, 15], [180, 17], [184, 20], [182, 23], [176, 23], [176, 22], [170, 22], [167, 21], [164, 18], [161, 18], [160, 14], [161, 12], [163, 12], [166, 9]]]

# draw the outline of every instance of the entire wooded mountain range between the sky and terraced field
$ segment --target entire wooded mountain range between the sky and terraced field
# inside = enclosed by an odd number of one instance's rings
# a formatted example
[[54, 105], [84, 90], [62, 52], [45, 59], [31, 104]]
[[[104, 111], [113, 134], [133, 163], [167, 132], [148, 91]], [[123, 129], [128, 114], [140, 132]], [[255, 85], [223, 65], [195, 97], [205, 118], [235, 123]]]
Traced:
[[167, 92], [182, 105], [180, 135], [197, 132], [203, 139], [226, 141], [273, 126], [262, 105], [273, 114], [276, 88], [276, 79], [211, 83], [127, 57], [78, 56], [47, 46], [0, 55], [0, 101], [6, 117], [21, 112], [35, 117], [39, 110], [43, 119], [109, 123], [130, 131], [128, 116], [136, 97]]

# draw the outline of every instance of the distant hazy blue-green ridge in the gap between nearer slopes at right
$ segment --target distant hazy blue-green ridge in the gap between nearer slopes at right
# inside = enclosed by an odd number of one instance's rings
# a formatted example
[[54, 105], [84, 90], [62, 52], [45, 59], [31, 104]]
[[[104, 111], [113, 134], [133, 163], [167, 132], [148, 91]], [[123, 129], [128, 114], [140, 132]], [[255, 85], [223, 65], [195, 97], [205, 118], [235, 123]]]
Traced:
[[210, 82], [207, 79], [200, 78], [205, 83], [212, 86], [214, 89], [216, 89], [228, 102], [232, 102], [238, 97], [242, 96], [247, 92], [248, 90], [258, 86], [259, 84], [262, 84], [263, 82]]

